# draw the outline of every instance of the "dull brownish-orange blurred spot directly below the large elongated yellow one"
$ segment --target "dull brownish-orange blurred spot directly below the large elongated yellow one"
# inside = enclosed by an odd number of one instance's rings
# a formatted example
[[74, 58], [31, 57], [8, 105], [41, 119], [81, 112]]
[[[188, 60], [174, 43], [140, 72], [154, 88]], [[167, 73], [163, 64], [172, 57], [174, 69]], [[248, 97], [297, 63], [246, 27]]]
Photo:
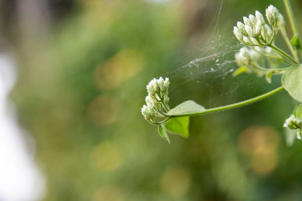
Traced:
[[119, 114], [119, 102], [110, 95], [100, 95], [91, 101], [89, 116], [98, 125], [114, 123]]

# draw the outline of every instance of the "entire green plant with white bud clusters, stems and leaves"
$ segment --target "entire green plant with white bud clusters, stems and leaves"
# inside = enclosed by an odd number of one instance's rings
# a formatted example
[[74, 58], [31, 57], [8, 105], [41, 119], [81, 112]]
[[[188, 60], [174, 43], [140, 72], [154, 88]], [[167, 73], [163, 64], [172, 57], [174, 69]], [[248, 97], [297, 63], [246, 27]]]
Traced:
[[[142, 107], [141, 111], [148, 122], [158, 126], [158, 133], [161, 137], [169, 143], [167, 132], [180, 134], [187, 138], [189, 137], [190, 116], [219, 112], [251, 104], [271, 97], [284, 89], [293, 99], [302, 102], [302, 63], [300, 58], [302, 57], [302, 48], [300, 36], [289, 0], [284, 0], [284, 4], [294, 33], [291, 40], [285, 31], [283, 15], [273, 5], [269, 5], [265, 10], [268, 24], [265, 22], [264, 16], [256, 11], [255, 15], [250, 14], [248, 17], [243, 17], [243, 23], [237, 22], [237, 26], [233, 30], [236, 38], [245, 45], [235, 54], [235, 60], [239, 68], [234, 71], [233, 76], [243, 72], [255, 73], [258, 76], [265, 75], [266, 81], [271, 83], [273, 75], [282, 74], [282, 86], [253, 99], [226, 106], [205, 109], [193, 100], [187, 100], [170, 109], [168, 105], [169, 78], [165, 78], [165, 80], [162, 77], [154, 78], [147, 85], [146, 105]], [[291, 51], [291, 55], [275, 45], [274, 39], [279, 32]], [[287, 67], [280, 67], [281, 65]], [[268, 66], [268, 68], [265, 66]], [[283, 127], [297, 130], [297, 138], [302, 138], [301, 103], [294, 113], [285, 120]]]

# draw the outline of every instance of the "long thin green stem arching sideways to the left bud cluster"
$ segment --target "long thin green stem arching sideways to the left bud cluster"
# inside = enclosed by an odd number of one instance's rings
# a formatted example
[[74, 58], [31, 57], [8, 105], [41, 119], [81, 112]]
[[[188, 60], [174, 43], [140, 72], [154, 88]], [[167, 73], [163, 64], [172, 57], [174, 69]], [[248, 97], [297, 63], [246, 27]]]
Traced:
[[244, 100], [244, 101], [237, 102], [237, 103], [234, 103], [234, 104], [229, 104], [229, 105], [226, 105], [226, 106], [206, 109], [205, 111], [202, 111], [202, 112], [192, 112], [192, 113], [186, 113], [186, 114], [171, 115], [171, 117], [195, 116], [195, 115], [208, 114], [208, 113], [214, 113], [214, 112], [220, 112], [220, 111], [224, 111], [224, 110], [234, 109], [234, 108], [241, 107], [241, 106], [244, 106], [244, 105], [248, 105], [248, 104], [251, 104], [251, 103], [254, 103], [254, 102], [258, 102], [260, 100], [267, 99], [268, 97], [271, 97], [271, 96], [273, 96], [273, 95], [275, 95], [275, 94], [277, 94], [277, 93], [279, 93], [283, 90], [284, 90], [284, 87], [281, 86], [277, 89], [274, 89], [270, 92], [267, 92], [267, 93], [265, 93], [261, 96], [255, 97], [253, 99]]

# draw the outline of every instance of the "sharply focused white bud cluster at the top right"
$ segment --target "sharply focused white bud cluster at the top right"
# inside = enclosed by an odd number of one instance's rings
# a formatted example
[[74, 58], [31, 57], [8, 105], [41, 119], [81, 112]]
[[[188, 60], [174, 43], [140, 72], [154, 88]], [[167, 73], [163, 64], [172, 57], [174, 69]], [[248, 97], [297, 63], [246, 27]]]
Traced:
[[255, 12], [255, 16], [250, 14], [249, 17], [243, 17], [244, 24], [237, 22], [234, 27], [234, 35], [236, 38], [246, 45], [264, 45], [270, 44], [278, 31], [278, 26], [284, 26], [284, 18], [278, 9], [273, 5], [268, 6], [265, 10], [265, 16], [270, 24], [265, 24], [263, 15]]

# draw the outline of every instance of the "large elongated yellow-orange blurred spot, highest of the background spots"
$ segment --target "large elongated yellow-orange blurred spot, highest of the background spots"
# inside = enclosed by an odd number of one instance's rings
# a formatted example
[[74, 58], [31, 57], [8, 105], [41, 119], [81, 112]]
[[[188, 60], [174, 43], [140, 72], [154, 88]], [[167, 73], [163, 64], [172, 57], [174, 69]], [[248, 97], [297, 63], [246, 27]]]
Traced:
[[102, 90], [111, 90], [142, 70], [140, 52], [125, 49], [118, 52], [94, 71], [94, 82]]

